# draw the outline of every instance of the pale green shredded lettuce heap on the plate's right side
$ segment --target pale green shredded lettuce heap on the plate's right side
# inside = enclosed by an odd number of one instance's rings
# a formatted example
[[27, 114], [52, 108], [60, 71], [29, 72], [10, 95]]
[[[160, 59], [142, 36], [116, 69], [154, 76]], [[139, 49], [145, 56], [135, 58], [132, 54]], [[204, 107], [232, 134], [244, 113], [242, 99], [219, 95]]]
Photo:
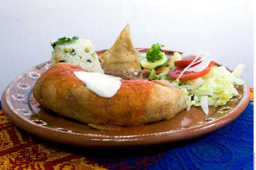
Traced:
[[168, 74], [158, 78], [167, 80], [173, 87], [181, 89], [187, 95], [190, 105], [201, 106], [204, 113], [208, 114], [209, 109], [206, 105], [225, 105], [230, 98], [238, 95], [234, 85], [244, 84], [238, 77], [242, 74], [244, 66], [239, 64], [232, 73], [225, 66], [212, 67], [204, 77], [189, 81], [172, 80]]

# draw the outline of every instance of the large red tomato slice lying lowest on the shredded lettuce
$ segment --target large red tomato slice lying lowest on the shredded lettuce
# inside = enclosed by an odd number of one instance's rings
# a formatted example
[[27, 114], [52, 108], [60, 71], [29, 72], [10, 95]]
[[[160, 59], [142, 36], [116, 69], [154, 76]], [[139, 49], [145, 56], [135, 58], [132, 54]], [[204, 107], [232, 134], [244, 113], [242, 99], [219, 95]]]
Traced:
[[[173, 69], [171, 69], [168, 72], [168, 75], [172, 78], [172, 79], [177, 79], [180, 75], [180, 73], [185, 69], [185, 67], [174, 67]], [[203, 77], [204, 75], [206, 75], [207, 73], [209, 73], [209, 71], [211, 70], [210, 66], [207, 66], [203, 71], [199, 71], [199, 72], [189, 72], [186, 71], [179, 79], [180, 81], [187, 81], [187, 80], [193, 80], [199, 77]]]

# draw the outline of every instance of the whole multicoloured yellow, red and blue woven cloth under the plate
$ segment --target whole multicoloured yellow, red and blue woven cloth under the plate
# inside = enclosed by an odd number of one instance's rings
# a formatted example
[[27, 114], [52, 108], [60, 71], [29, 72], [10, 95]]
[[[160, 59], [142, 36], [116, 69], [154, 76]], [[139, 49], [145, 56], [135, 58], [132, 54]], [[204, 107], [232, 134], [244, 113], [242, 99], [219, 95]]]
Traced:
[[145, 148], [52, 143], [21, 130], [0, 110], [0, 169], [252, 169], [254, 103], [250, 91], [245, 111], [224, 128], [194, 140]]

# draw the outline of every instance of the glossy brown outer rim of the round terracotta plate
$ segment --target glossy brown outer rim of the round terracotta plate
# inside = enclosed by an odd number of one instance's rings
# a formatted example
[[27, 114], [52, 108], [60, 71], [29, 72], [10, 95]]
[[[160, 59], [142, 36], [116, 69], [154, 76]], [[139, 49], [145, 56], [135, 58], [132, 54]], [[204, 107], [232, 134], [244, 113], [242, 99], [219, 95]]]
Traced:
[[[137, 50], [143, 50], [144, 48], [137, 48]], [[145, 49], [144, 49], [145, 50]], [[105, 50], [99, 50], [98, 52], [104, 52]], [[162, 50], [165, 52], [174, 52], [171, 50]], [[49, 62], [49, 61], [47, 61]], [[92, 133], [76, 133], [76, 132], [65, 132], [59, 129], [49, 128], [46, 126], [40, 126], [31, 123], [24, 117], [17, 113], [12, 103], [10, 102], [10, 88], [15, 84], [15, 82], [20, 79], [25, 73], [40, 67], [40, 65], [45, 65], [47, 62], [36, 65], [35, 67], [22, 73], [19, 77], [15, 78], [5, 89], [2, 94], [1, 104], [2, 109], [6, 116], [12, 121], [16, 126], [22, 128], [23, 130], [39, 136], [43, 139], [50, 140], [53, 142], [68, 144], [73, 146], [84, 146], [84, 147], [133, 147], [142, 145], [152, 145], [152, 144], [162, 144], [180, 140], [187, 140], [195, 138], [198, 136], [205, 135], [207, 133], [213, 132], [223, 126], [229, 124], [234, 119], [236, 119], [249, 104], [250, 101], [250, 90], [248, 85], [245, 83], [242, 85], [243, 92], [242, 98], [235, 108], [219, 117], [215, 120], [205, 122], [204, 124], [199, 124], [189, 128], [180, 128], [175, 130], [170, 130], [166, 132], [158, 133], [146, 133], [141, 135], [131, 135], [131, 136], [107, 136], [98, 135]], [[28, 96], [29, 99], [29, 96]]]

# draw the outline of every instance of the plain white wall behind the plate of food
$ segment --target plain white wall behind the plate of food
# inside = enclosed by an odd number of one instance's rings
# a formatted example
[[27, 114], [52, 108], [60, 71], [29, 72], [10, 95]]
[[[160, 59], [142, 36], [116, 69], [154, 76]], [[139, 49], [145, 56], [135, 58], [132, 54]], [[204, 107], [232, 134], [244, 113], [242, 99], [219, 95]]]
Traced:
[[159, 42], [165, 49], [202, 49], [253, 87], [252, 1], [1, 1], [0, 94], [21, 73], [50, 60], [59, 37], [90, 39], [108, 49], [130, 24], [135, 47]]

